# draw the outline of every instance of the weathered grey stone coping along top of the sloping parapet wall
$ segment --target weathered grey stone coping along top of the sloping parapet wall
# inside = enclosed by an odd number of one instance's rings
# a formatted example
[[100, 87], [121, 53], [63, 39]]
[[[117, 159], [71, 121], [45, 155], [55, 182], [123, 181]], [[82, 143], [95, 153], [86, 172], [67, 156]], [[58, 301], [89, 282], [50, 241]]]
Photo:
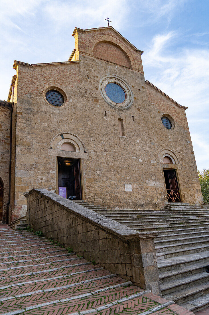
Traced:
[[119, 222], [106, 218], [104, 215], [100, 215], [93, 210], [85, 208], [77, 203], [74, 203], [71, 200], [68, 200], [62, 196], [57, 195], [54, 192], [50, 192], [47, 189], [38, 189], [34, 188], [27, 192], [24, 196], [28, 197], [33, 192], [38, 192], [40, 195], [43, 195], [48, 200], [52, 200], [59, 206], [62, 206], [66, 211], [70, 211], [77, 216], [80, 216], [82, 220], [89, 222], [95, 226], [102, 228], [105, 231], [110, 232], [117, 237], [128, 241], [143, 239], [153, 239], [158, 236], [158, 232], [145, 232], [141, 233], [134, 229], [131, 229], [128, 226], [122, 225]]

